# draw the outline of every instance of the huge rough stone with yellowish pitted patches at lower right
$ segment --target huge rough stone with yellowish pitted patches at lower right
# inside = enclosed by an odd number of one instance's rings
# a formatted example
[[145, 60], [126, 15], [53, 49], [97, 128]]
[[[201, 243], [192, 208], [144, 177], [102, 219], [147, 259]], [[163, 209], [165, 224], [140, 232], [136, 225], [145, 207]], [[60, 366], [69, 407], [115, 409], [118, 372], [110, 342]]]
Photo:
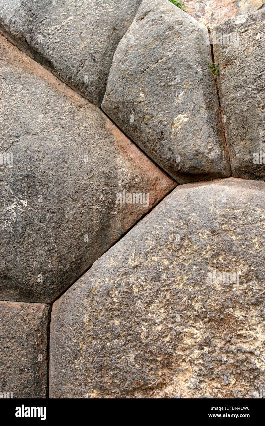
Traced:
[[50, 397], [259, 396], [264, 229], [264, 182], [178, 186], [54, 303]]

